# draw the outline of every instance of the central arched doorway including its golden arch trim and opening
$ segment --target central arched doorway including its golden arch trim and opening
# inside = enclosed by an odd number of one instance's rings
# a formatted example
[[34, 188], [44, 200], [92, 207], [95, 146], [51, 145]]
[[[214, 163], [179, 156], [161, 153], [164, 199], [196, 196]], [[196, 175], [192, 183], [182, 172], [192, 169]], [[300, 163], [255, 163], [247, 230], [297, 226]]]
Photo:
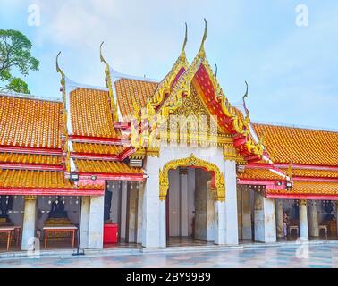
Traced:
[[[215, 241], [215, 201], [224, 202], [224, 175], [215, 164], [191, 155], [160, 172], [167, 246]], [[199, 241], [197, 241], [199, 240]]]

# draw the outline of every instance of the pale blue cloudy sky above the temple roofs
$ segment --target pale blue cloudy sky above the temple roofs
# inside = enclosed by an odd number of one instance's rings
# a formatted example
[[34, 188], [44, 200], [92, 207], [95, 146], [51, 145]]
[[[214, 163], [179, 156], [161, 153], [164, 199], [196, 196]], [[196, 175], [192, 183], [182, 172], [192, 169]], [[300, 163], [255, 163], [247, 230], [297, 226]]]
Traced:
[[58, 51], [70, 79], [104, 85], [103, 40], [115, 70], [161, 80], [181, 51], [184, 22], [192, 61], [206, 17], [207, 58], [233, 104], [247, 80], [254, 121], [326, 129], [338, 129], [337, 15], [336, 0], [0, 0], [0, 29], [26, 34], [41, 62], [27, 78], [34, 95], [60, 97]]

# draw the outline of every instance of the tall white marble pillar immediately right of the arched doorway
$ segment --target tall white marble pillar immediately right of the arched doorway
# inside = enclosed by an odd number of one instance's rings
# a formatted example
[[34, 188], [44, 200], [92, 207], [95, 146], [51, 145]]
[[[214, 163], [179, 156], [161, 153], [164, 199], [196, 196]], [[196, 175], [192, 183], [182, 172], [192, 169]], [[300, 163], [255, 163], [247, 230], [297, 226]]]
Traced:
[[[225, 243], [237, 245], [238, 240], [238, 214], [237, 214], [237, 175], [236, 162], [224, 161], [224, 182], [225, 182]], [[218, 208], [222, 204], [218, 204]], [[222, 223], [222, 220], [221, 220]]]

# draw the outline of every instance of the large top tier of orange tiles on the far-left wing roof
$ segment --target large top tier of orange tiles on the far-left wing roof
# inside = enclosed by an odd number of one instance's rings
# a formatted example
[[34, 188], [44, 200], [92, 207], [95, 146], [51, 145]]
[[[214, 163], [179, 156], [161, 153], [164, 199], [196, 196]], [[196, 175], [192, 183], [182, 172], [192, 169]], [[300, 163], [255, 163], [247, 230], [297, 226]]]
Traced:
[[0, 144], [60, 148], [62, 111], [59, 102], [0, 95]]

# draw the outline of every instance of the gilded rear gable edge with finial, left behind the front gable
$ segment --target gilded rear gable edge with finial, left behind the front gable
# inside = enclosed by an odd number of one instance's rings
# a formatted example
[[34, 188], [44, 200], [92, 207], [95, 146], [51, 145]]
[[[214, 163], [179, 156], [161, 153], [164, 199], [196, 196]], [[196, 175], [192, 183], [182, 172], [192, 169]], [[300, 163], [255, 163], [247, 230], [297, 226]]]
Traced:
[[176, 62], [173, 64], [173, 68], [168, 74], [165, 76], [164, 80], [162, 80], [156, 91], [152, 97], [150, 97], [150, 103], [156, 109], [160, 108], [160, 106], [164, 103], [165, 99], [170, 95], [173, 91], [173, 87], [177, 80], [180, 79], [184, 71], [187, 71], [189, 68], [189, 62], [187, 60], [187, 56], [185, 54], [185, 46], [188, 41], [188, 26], [185, 23], [185, 38], [182, 46], [182, 52], [180, 56], [177, 58]]

